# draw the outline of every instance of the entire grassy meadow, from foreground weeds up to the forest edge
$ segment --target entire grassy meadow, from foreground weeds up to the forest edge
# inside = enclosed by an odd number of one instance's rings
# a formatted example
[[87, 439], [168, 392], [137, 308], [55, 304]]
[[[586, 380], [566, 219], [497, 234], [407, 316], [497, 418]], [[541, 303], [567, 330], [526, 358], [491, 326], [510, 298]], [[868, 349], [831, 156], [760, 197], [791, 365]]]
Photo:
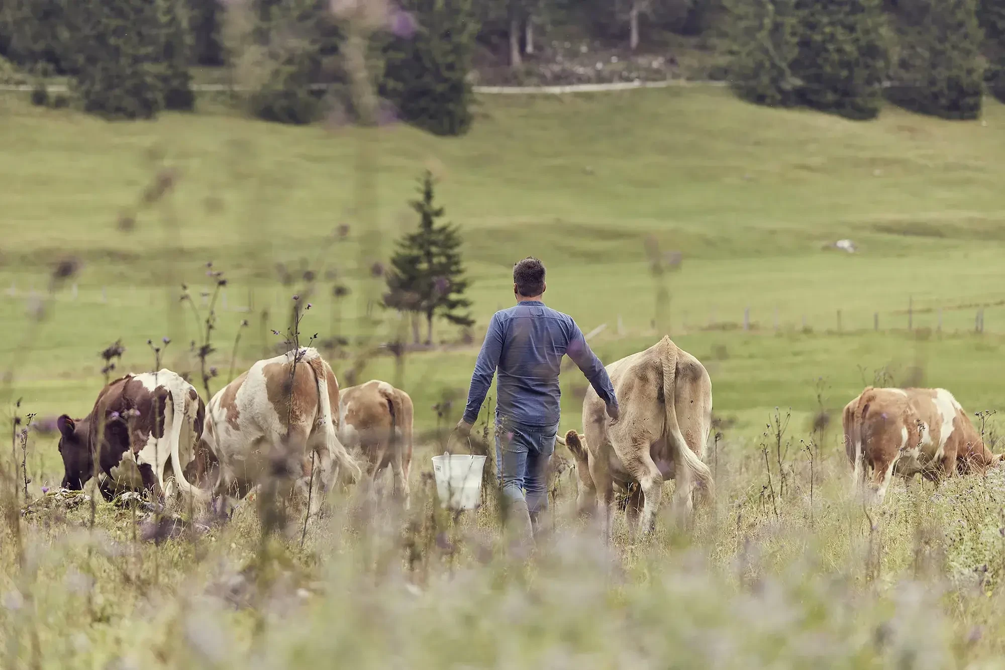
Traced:
[[[120, 339], [117, 372], [152, 368], [147, 341], [170, 338], [164, 365], [198, 379], [190, 343], [203, 342], [212, 262], [228, 283], [211, 390], [273, 356], [272, 330], [305, 296], [303, 337], [345, 339], [330, 357], [343, 385], [379, 378], [412, 395], [424, 435], [412, 509], [340, 493], [303, 542], [263, 537], [249, 505], [153, 543], [136, 513], [103, 501], [18, 523], [8, 490], [0, 667], [1002, 664], [1005, 477], [897, 482], [867, 512], [846, 497], [840, 409], [885, 383], [1005, 410], [1005, 107], [987, 100], [978, 123], [895, 108], [851, 123], [702, 86], [500, 95], [479, 100], [469, 135], [437, 139], [204, 106], [109, 124], [0, 98], [3, 434], [18, 398], [20, 416], [85, 414], [98, 354]], [[476, 324], [465, 343], [438, 323], [431, 351], [396, 361], [368, 352], [409, 324], [373, 302], [424, 169], [462, 231]], [[844, 238], [856, 253], [825, 248]], [[655, 275], [652, 259], [673, 252], [679, 266]], [[548, 267], [551, 306], [584, 331], [606, 325], [591, 341], [605, 362], [669, 332], [709, 369], [720, 495], [691, 534], [661, 520], [633, 544], [619, 525], [605, 549], [571, 515], [574, 472], [556, 485], [554, 541], [530, 564], [507, 552], [491, 491], [476, 513], [435, 511], [428, 457], [527, 255]], [[53, 281], [65, 259], [75, 274]], [[584, 382], [570, 370], [564, 385], [563, 431], [579, 427]], [[776, 408], [791, 421], [766, 436]], [[55, 443], [30, 435], [31, 498], [58, 485]]]

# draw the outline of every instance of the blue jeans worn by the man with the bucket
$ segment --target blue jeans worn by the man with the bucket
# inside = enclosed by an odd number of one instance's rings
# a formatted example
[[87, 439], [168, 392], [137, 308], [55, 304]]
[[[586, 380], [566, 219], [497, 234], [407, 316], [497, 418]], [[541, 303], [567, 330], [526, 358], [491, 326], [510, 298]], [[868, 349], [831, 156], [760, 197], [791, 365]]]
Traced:
[[548, 461], [558, 431], [558, 423], [528, 426], [502, 419], [495, 424], [495, 476], [502, 495], [509, 501], [526, 499], [532, 514], [548, 508]]

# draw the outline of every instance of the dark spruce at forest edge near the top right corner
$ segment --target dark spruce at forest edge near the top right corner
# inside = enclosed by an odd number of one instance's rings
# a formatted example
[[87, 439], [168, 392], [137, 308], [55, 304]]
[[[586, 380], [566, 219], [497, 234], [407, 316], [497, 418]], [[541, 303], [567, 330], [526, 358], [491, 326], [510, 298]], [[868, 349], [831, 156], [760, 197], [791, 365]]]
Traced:
[[976, 0], [901, 0], [900, 52], [887, 97], [943, 119], [977, 119], [984, 93]]

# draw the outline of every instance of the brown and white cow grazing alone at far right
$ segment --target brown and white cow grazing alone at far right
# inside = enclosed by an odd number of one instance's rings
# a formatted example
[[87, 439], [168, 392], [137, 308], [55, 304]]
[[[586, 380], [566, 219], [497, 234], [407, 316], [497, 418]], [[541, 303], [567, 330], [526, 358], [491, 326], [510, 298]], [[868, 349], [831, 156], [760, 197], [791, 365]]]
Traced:
[[844, 447], [856, 485], [868, 482], [882, 502], [894, 473], [938, 481], [954, 472], [983, 471], [1001, 460], [946, 389], [868, 387], [845, 405]]

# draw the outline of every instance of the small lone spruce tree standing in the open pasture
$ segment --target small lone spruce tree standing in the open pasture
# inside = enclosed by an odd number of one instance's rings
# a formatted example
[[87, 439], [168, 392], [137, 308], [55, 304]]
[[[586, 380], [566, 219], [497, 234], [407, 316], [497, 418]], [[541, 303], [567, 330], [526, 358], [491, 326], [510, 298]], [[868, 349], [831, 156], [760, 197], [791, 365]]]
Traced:
[[471, 325], [467, 312], [471, 305], [464, 297], [468, 282], [460, 258], [460, 234], [449, 223], [437, 223], [443, 208], [433, 204], [433, 176], [422, 178], [421, 198], [410, 205], [419, 215], [419, 229], [398, 240], [387, 273], [388, 291], [384, 304], [413, 314], [413, 340], [419, 342], [417, 318], [425, 316], [426, 344], [433, 340], [433, 318], [442, 316], [456, 325]]

